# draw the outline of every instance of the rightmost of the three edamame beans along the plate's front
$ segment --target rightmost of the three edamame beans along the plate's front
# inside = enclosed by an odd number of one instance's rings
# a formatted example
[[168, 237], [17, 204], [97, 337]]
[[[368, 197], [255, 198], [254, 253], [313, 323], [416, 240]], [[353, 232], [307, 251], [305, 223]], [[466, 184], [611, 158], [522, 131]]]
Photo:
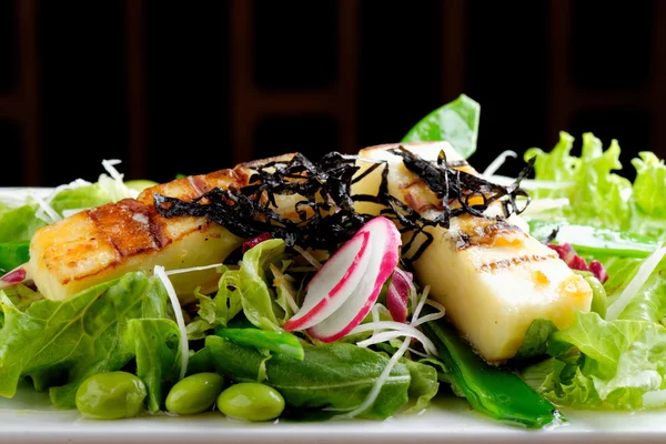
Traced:
[[271, 386], [258, 382], [243, 382], [220, 393], [218, 408], [229, 417], [269, 421], [282, 414], [284, 397]]

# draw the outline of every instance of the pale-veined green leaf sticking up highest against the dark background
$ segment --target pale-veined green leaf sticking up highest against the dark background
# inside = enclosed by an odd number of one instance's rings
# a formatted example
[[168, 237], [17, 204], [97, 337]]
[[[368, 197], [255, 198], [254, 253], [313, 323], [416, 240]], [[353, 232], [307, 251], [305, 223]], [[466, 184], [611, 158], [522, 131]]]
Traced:
[[476, 151], [481, 105], [465, 94], [437, 108], [407, 132], [402, 142], [445, 140], [464, 158]]

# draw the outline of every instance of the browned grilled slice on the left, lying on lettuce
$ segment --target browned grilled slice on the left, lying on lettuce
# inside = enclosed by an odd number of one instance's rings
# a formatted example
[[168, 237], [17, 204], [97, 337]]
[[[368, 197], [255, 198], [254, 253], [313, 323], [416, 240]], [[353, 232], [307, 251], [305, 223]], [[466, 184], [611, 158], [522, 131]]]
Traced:
[[[27, 271], [46, 297], [63, 300], [130, 271], [220, 263], [243, 239], [205, 218], [164, 218], [157, 212], [153, 195], [191, 201], [215, 186], [244, 186], [254, 165], [291, 155], [174, 180], [144, 190], [137, 200], [109, 203], [42, 228], [31, 241]], [[172, 282], [184, 304], [195, 300], [196, 286], [215, 289], [219, 278], [210, 269], [174, 274]]]

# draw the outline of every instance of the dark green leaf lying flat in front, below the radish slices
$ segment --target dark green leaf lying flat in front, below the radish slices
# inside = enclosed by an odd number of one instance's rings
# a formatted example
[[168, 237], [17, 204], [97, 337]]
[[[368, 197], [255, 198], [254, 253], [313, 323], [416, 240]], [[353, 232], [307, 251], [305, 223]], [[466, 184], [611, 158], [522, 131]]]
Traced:
[[[256, 349], [218, 336], [208, 336], [205, 346], [218, 372], [236, 382], [256, 381], [265, 362], [264, 384], [278, 390], [293, 408], [352, 411], [363, 403], [389, 363], [379, 353], [343, 343], [306, 346], [302, 361], [285, 354], [265, 361]], [[374, 404], [361, 416], [384, 420], [393, 415], [406, 404], [410, 383], [408, 369], [398, 362]]]

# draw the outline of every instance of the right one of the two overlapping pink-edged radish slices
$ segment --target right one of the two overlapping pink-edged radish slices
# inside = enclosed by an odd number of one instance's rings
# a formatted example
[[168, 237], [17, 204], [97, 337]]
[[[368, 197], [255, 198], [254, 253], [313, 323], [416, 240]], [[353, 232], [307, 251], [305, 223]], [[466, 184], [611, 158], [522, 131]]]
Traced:
[[371, 258], [363, 280], [349, 299], [333, 314], [316, 323], [307, 333], [322, 342], [333, 342], [345, 336], [372, 310], [382, 285], [397, 266], [400, 232], [386, 218], [374, 218], [356, 233], [370, 233]]

